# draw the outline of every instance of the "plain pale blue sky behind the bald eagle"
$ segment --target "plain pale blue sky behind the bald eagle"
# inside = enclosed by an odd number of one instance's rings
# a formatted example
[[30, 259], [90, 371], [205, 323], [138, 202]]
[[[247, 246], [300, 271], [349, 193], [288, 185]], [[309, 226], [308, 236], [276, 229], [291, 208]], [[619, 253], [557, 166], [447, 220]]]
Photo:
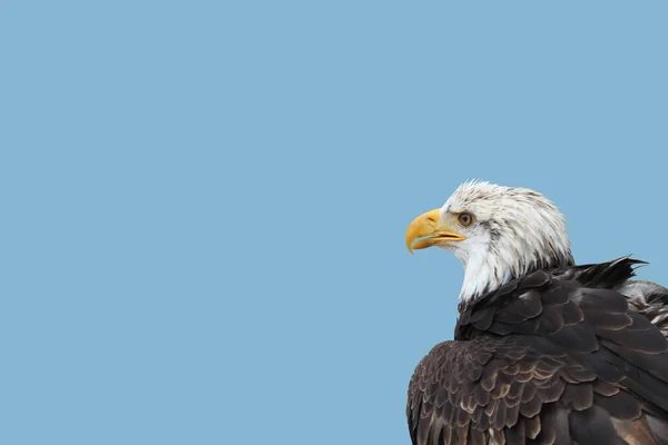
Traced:
[[667, 284], [667, 4], [4, 0], [0, 442], [407, 444], [470, 178]]

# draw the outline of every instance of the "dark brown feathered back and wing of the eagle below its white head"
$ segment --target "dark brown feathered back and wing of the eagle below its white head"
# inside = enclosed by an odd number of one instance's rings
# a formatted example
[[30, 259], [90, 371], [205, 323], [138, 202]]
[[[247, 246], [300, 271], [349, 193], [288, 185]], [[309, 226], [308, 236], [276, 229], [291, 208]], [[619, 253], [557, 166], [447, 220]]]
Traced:
[[536, 271], [462, 310], [411, 379], [413, 444], [668, 444], [668, 340], [618, 285]]

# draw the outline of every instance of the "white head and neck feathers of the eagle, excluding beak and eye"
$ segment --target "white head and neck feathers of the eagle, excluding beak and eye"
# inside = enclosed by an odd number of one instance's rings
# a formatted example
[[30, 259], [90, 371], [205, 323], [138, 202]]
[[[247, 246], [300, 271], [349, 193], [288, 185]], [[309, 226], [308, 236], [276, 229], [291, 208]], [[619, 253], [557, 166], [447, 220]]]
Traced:
[[571, 266], [573, 257], [559, 209], [541, 194], [487, 181], [462, 184], [441, 217], [466, 211], [474, 224], [463, 241], [446, 246], [462, 261], [460, 298], [475, 299], [536, 268]]

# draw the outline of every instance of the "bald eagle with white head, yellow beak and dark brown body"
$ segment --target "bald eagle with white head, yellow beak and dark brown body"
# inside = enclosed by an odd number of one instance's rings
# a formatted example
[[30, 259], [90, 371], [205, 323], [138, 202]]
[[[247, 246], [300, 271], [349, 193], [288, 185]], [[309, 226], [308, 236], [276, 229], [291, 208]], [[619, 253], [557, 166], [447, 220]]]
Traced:
[[409, 386], [414, 445], [668, 444], [668, 289], [630, 257], [576, 265], [541, 194], [461, 185], [406, 231], [464, 266], [454, 339]]

